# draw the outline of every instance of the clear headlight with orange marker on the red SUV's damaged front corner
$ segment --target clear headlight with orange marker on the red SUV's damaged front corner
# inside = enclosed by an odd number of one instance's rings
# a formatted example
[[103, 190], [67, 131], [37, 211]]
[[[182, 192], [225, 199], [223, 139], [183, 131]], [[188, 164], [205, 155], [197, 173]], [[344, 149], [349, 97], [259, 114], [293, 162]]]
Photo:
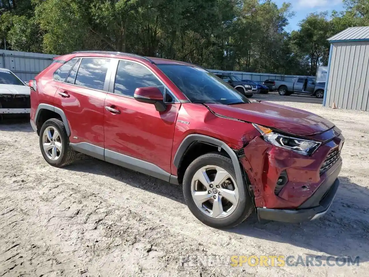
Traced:
[[311, 155], [320, 146], [320, 142], [306, 140], [297, 137], [291, 137], [277, 133], [268, 127], [252, 123], [252, 125], [262, 134], [262, 137], [268, 143], [274, 146], [281, 147], [294, 151], [302, 155]]

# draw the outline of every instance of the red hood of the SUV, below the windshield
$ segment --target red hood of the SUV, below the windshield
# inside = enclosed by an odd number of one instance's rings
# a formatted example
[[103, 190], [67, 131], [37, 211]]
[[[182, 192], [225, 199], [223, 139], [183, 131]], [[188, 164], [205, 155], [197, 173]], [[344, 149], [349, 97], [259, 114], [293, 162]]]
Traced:
[[205, 104], [215, 114], [279, 129], [298, 136], [323, 133], [334, 124], [304, 110], [270, 102], [240, 105]]

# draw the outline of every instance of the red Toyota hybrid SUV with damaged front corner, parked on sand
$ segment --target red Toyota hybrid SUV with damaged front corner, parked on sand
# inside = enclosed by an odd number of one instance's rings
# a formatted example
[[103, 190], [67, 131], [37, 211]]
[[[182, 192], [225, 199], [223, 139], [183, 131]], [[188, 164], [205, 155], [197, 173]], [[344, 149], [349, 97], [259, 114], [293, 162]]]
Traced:
[[119, 52], [58, 57], [31, 86], [31, 125], [45, 160], [77, 152], [172, 184], [217, 228], [256, 207], [259, 219], [301, 222], [328, 211], [344, 143], [328, 120], [250, 102], [185, 62]]

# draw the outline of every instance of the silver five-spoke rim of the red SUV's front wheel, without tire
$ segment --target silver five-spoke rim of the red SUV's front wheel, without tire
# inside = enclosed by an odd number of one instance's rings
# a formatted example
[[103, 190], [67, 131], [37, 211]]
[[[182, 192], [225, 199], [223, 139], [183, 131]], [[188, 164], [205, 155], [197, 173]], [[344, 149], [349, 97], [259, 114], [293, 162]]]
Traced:
[[211, 218], [225, 218], [238, 205], [237, 183], [229, 172], [215, 165], [196, 171], [191, 182], [191, 193], [197, 208]]

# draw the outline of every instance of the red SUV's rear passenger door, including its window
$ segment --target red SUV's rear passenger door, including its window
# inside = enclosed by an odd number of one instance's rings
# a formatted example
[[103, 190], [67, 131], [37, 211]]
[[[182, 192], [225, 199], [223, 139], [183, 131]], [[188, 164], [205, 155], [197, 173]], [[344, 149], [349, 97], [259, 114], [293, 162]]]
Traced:
[[[104, 101], [110, 75], [110, 59], [78, 58], [69, 75], [55, 94], [55, 106], [65, 113], [71, 136], [70, 143], [79, 144], [80, 151], [92, 151], [98, 158], [104, 154]], [[79, 150], [79, 149], [78, 149]], [[87, 152], [88, 152], [87, 151]]]

